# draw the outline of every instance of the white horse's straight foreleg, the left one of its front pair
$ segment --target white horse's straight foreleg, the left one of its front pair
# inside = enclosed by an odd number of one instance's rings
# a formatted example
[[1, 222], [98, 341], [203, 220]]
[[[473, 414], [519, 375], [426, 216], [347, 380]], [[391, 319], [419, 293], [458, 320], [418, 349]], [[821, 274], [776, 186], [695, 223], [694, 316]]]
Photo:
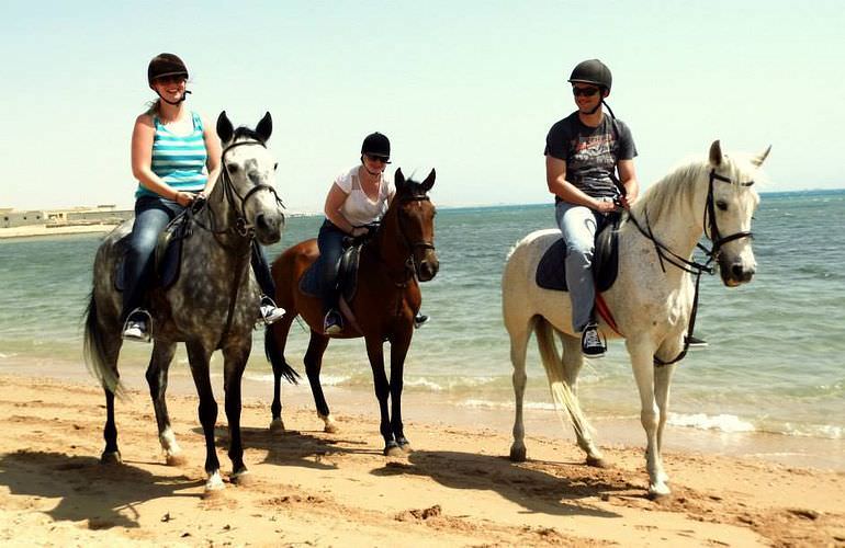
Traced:
[[636, 344], [627, 341], [631, 355], [636, 388], [640, 391], [640, 422], [645, 430], [645, 467], [649, 471], [649, 494], [662, 496], [669, 494], [665, 481], [660, 443], [657, 442], [658, 412], [654, 396], [654, 349], [650, 344]]

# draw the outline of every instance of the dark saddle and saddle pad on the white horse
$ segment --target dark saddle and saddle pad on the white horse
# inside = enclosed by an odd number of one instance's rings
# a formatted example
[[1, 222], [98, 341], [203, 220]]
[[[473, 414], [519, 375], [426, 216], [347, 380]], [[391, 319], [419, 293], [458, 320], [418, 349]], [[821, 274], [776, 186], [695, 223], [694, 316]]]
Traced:
[[[593, 254], [593, 277], [596, 292], [608, 290], [616, 282], [619, 272], [619, 222], [621, 215], [613, 214], [605, 227], [596, 235]], [[566, 287], [566, 243], [563, 237], [545, 251], [537, 265], [536, 282], [543, 289], [559, 292]]]

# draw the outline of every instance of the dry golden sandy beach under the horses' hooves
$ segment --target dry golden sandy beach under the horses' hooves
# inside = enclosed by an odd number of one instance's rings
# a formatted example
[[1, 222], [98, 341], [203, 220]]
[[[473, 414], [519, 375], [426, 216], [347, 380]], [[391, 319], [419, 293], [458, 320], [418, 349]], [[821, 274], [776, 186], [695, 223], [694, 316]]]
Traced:
[[103, 466], [93, 381], [0, 377], [4, 546], [845, 546], [842, 471], [666, 450], [674, 494], [650, 501], [639, 447], [606, 445], [612, 467], [595, 469], [567, 436], [529, 435], [515, 465], [507, 432], [448, 416], [406, 420], [415, 452], [385, 458], [371, 395], [333, 401], [337, 434], [304, 390], [282, 434], [267, 429], [269, 395], [246, 398], [251, 482], [204, 498], [196, 398], [169, 397], [188, 464], [168, 467], [140, 383], [117, 404], [124, 464]]

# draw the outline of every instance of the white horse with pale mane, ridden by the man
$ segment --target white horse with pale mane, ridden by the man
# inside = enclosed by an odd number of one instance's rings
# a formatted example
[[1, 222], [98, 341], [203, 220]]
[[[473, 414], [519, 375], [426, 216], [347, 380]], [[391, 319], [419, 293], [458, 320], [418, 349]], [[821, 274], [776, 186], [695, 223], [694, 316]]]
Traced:
[[[751, 281], [756, 267], [752, 214], [759, 203], [752, 183], [769, 149], [754, 158], [729, 158], [714, 141], [709, 161], [683, 165], [652, 185], [619, 227], [619, 274], [612, 287], [601, 294], [611, 316], [610, 321], [599, 320], [599, 329], [610, 338], [624, 338], [631, 356], [652, 496], [669, 493], [661, 445], [673, 364], [686, 351], [685, 336], [697, 301], [691, 274], [708, 270], [691, 261], [692, 251], [703, 232], [712, 242], [710, 260], [719, 264], [724, 285]], [[510, 252], [502, 277], [502, 308], [510, 335], [516, 393], [510, 459], [526, 458], [522, 398], [526, 350], [533, 331], [556, 408], [568, 412], [587, 464], [604, 466], [578, 407], [577, 376], [584, 357], [581, 340], [572, 330], [570, 296], [540, 288], [534, 279], [540, 259], [559, 238], [559, 230], [528, 235]], [[554, 333], [563, 345], [562, 355]]]

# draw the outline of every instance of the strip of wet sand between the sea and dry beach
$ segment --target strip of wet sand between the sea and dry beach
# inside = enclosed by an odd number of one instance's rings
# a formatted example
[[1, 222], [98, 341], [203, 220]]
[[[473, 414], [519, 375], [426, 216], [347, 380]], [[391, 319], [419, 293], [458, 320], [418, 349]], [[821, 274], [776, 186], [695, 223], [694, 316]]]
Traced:
[[[168, 395], [193, 398], [196, 390], [193, 380], [185, 370], [171, 369]], [[125, 387], [142, 395], [142, 400], [149, 402], [147, 384], [144, 378], [144, 367], [124, 365], [122, 381]], [[309, 410], [313, 415], [312, 427], [322, 427], [322, 420], [316, 416], [313, 396], [303, 377], [298, 385], [282, 384], [282, 404]], [[63, 368], [45, 373], [40, 362], [0, 363], [0, 379], [15, 377], [30, 380], [50, 379], [54, 383], [69, 383], [79, 387], [99, 389], [97, 380], [89, 374], [86, 365], [72, 359], [63, 362]], [[212, 372], [212, 386], [215, 398], [222, 399], [223, 380], [218, 370]], [[272, 383], [261, 374], [261, 379], [250, 376], [247, 369], [241, 385], [244, 398], [255, 400], [263, 406], [267, 423], [270, 422], [270, 403], [272, 400]], [[378, 419], [378, 401], [372, 387], [339, 387], [324, 385], [326, 400], [336, 418], [349, 414], [363, 414], [371, 420]], [[551, 402], [551, 399], [549, 400]], [[594, 416], [586, 410], [594, 429], [594, 437], [599, 446], [645, 447], [645, 433], [635, 419], [618, 416]], [[432, 393], [429, 391], [406, 388], [403, 393], [403, 416], [406, 420], [438, 425], [443, 429], [482, 430], [509, 436], [514, 425], [514, 410], [510, 408], [489, 408], [465, 404], [461, 398], [450, 395]], [[528, 437], [543, 436], [554, 439], [562, 447], [575, 445], [572, 426], [562, 423], [561, 418], [550, 409], [527, 407], [523, 411], [525, 430]], [[410, 434], [408, 434], [410, 436]], [[499, 448], [502, 455], [507, 455], [510, 439]], [[667, 452], [681, 452], [713, 455], [743, 460], [760, 459], [781, 466], [845, 472], [845, 439], [789, 436], [767, 432], [723, 432], [702, 430], [667, 424], [664, 435], [664, 447]], [[531, 450], [530, 444], [528, 447]]]

